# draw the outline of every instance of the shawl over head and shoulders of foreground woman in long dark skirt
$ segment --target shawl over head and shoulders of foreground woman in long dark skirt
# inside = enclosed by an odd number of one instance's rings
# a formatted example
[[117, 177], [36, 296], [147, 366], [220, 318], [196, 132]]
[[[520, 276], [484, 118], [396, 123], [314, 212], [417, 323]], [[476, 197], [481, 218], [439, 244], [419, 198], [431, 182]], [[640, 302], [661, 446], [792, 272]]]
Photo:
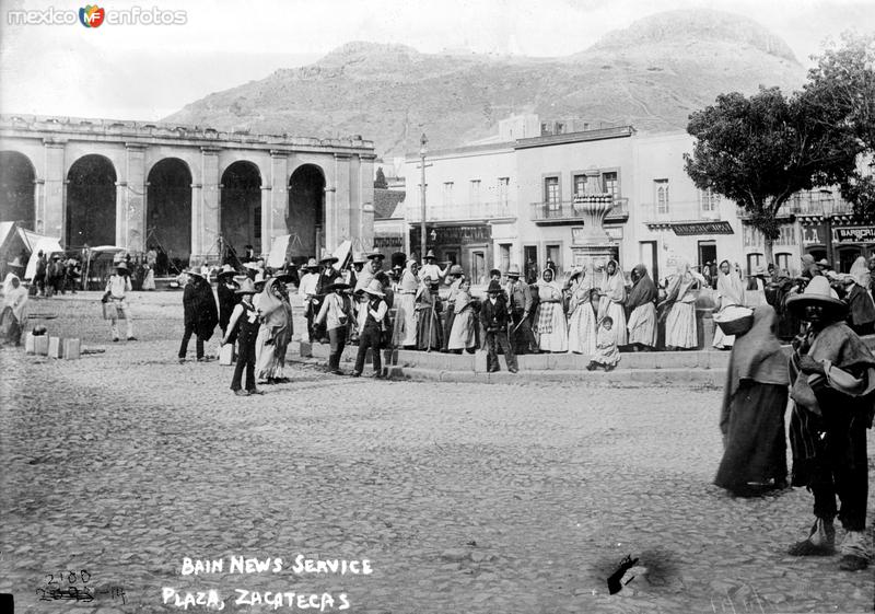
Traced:
[[754, 310], [754, 325], [750, 331], [735, 337], [723, 395], [724, 414], [728, 412], [742, 380], [752, 380], [760, 384], [790, 384], [788, 361], [775, 336], [777, 331], [778, 314], [774, 309], [771, 305], [761, 305]]

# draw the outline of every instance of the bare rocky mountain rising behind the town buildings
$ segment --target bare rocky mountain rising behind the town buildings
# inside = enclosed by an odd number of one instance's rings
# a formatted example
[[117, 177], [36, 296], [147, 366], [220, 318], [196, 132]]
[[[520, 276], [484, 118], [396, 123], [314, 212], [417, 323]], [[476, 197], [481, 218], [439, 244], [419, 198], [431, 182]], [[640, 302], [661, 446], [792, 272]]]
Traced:
[[591, 126], [684, 129], [718, 94], [798, 89], [805, 69], [781, 38], [733, 13], [657, 13], [562, 58], [422, 54], [349, 43], [315, 63], [210, 94], [165, 118], [290, 136], [362, 135], [381, 155], [455, 147], [520, 113]]

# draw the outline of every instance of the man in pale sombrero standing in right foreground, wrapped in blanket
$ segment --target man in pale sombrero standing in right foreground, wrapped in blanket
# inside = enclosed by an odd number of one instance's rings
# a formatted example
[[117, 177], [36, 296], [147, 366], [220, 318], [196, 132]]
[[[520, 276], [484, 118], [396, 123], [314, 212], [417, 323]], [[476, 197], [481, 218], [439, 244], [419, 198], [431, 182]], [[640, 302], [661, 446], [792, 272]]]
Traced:
[[[807, 323], [790, 361], [790, 419], [793, 486], [814, 495], [815, 522], [808, 537], [790, 548], [794, 556], [835, 552], [836, 515], [845, 530], [839, 568], [865, 569], [871, 549], [865, 534], [868, 466], [866, 429], [875, 413], [875, 356], [845, 324], [848, 305], [822, 276], [788, 310]], [[841, 510], [836, 507], [836, 496]]]

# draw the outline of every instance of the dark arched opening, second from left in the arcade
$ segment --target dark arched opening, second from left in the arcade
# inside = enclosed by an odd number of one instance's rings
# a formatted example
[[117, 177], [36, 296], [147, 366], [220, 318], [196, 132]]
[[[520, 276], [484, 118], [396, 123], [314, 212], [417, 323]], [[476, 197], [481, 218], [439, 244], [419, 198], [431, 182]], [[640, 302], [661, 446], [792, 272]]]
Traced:
[[67, 173], [67, 247], [116, 242], [116, 170], [103, 155], [77, 160]]

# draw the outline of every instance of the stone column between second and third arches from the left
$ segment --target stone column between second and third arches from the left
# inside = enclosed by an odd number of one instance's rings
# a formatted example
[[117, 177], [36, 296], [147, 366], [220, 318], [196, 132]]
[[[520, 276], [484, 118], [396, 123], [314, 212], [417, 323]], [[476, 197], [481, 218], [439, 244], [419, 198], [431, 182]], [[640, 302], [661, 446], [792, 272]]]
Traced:
[[116, 245], [131, 254], [144, 251], [145, 240], [145, 149], [141, 143], [125, 143], [127, 171], [116, 183]]

